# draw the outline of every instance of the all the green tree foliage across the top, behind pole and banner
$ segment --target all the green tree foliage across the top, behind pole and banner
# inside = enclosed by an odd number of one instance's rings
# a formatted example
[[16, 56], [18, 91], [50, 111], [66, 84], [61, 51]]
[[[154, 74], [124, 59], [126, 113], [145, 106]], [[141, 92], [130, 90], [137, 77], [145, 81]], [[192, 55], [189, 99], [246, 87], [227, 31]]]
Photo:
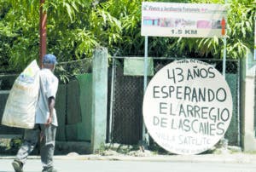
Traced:
[[[156, 1], [156, 0], [150, 0]], [[224, 0], [158, 0], [175, 3], [224, 3]], [[228, 0], [227, 57], [244, 57], [253, 49], [253, 0]], [[142, 0], [45, 0], [48, 52], [59, 61], [90, 58], [96, 46], [110, 54], [143, 55], [140, 34]], [[0, 70], [21, 70], [38, 58], [39, 1], [0, 2]], [[213, 38], [149, 37], [153, 56], [221, 58], [223, 40]]]

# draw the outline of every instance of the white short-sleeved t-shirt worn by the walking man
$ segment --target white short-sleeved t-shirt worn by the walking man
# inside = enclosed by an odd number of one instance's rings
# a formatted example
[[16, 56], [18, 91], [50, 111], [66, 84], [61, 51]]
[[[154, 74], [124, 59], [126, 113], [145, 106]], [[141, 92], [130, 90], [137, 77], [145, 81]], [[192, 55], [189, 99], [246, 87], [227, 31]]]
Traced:
[[[39, 72], [39, 77], [40, 89], [36, 110], [36, 123], [47, 123], [49, 118], [48, 98], [55, 98], [59, 80], [49, 69], [45, 68]], [[53, 111], [52, 124], [58, 126], [55, 109]]]

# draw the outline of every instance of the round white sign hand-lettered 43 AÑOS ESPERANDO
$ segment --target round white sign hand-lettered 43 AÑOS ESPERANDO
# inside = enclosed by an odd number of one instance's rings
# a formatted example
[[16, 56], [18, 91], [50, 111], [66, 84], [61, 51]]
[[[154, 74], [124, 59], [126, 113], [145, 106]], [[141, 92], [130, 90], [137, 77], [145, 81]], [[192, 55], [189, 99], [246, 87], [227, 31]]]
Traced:
[[231, 117], [228, 84], [213, 66], [200, 60], [177, 60], [163, 67], [144, 95], [149, 135], [169, 152], [207, 151], [224, 136]]

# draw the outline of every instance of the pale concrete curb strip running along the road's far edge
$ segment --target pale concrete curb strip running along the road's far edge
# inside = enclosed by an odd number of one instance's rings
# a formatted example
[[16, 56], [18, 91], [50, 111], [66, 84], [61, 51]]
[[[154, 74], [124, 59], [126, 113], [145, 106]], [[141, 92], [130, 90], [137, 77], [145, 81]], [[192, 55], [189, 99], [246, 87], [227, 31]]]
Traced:
[[[14, 159], [14, 156], [0, 156], [1, 159]], [[253, 163], [256, 164], [255, 154], [207, 154], [207, 155], [152, 155], [148, 157], [134, 157], [126, 155], [67, 155], [55, 156], [59, 160], [109, 160], [109, 161], [144, 161], [144, 162], [186, 162], [186, 163]], [[28, 159], [40, 159], [40, 156], [29, 156]]]

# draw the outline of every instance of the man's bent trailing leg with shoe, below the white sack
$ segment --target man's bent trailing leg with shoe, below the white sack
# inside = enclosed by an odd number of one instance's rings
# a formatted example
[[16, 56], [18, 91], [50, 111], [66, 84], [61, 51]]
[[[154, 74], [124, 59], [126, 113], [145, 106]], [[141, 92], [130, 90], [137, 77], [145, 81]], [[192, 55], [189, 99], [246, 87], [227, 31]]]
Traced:
[[34, 129], [25, 129], [25, 135], [22, 145], [16, 155], [15, 161], [12, 163], [15, 171], [22, 171], [23, 164], [26, 163], [27, 156], [33, 151], [38, 142], [38, 134], [40, 132], [39, 125], [35, 125]]

